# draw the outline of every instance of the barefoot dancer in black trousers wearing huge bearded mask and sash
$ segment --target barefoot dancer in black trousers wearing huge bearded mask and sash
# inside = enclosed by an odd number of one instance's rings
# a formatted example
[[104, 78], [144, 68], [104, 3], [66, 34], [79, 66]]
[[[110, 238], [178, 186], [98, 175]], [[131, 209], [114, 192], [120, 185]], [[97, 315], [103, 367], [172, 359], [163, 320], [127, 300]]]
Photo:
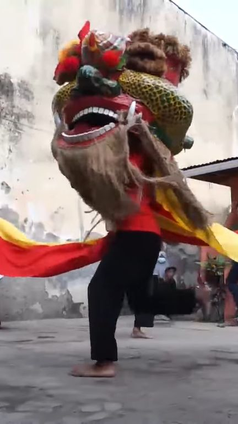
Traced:
[[115, 375], [115, 329], [125, 291], [135, 314], [192, 312], [197, 293], [191, 289], [165, 283], [150, 296], [161, 237], [210, 245], [238, 261], [238, 236], [209, 223], [174, 159], [193, 144], [186, 136], [192, 106], [177, 89], [190, 61], [188, 47], [175, 37], [144, 29], [125, 38], [91, 30], [89, 22], [60, 51], [52, 152], [111, 230], [96, 241], [49, 245], [0, 220], [1, 272], [44, 277], [101, 259], [88, 289], [95, 364], [75, 367], [75, 376]]

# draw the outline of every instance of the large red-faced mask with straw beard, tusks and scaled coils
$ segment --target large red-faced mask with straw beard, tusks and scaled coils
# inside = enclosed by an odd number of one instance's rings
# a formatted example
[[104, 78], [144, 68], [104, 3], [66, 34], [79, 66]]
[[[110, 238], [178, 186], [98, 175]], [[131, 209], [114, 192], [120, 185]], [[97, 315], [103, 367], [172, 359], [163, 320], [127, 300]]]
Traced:
[[[90, 30], [89, 22], [60, 51], [53, 155], [71, 186], [104, 219], [135, 210], [128, 187], [146, 181], [172, 188], [186, 216], [206, 227], [207, 215], [174, 159], [193, 144], [186, 136], [192, 105], [177, 88], [190, 61], [188, 47], [175, 37], [149, 29], [122, 37]], [[150, 159], [148, 172], [129, 161], [132, 150]]]

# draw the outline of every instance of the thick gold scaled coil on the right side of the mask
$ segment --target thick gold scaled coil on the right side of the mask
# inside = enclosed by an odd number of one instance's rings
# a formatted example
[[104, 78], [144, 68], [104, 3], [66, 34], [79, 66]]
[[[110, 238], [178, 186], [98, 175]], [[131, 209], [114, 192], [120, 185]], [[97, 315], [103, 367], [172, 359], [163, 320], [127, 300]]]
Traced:
[[154, 75], [125, 70], [119, 83], [123, 91], [139, 99], [155, 115], [158, 131], [154, 135], [161, 138], [173, 155], [178, 155], [192, 122], [191, 103], [177, 87]]

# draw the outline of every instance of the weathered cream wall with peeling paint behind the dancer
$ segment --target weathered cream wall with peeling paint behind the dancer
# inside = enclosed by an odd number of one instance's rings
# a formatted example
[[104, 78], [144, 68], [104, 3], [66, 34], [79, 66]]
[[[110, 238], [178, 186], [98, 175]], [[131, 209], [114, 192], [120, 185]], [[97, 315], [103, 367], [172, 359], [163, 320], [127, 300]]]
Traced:
[[[88, 208], [60, 174], [50, 149], [58, 50], [86, 19], [92, 27], [124, 34], [149, 26], [177, 35], [191, 47], [193, 63], [182, 90], [194, 106], [190, 135], [195, 142], [178, 156], [181, 167], [231, 157], [237, 149], [232, 125], [238, 104], [237, 53], [169, 0], [2, 1], [0, 217], [38, 241], [81, 239], [91, 226], [92, 216], [84, 213]], [[21, 30], [13, 37], [19, 22]], [[223, 188], [206, 184], [194, 190], [213, 193], [203, 199], [208, 209], [216, 203], [211, 198], [227, 207]], [[103, 235], [104, 225], [95, 231], [95, 236]], [[95, 268], [52, 279], [3, 277], [1, 319], [86, 315], [87, 285]]]

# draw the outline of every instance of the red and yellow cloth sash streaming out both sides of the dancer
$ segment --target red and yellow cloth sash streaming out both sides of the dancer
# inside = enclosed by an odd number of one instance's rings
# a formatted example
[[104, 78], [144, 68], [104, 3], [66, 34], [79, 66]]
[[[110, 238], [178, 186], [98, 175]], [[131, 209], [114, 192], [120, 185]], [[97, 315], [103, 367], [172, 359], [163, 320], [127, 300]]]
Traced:
[[[194, 227], [172, 190], [158, 190], [154, 213], [163, 240], [211, 246], [238, 261], [238, 234], [214, 223], [206, 230]], [[48, 277], [99, 261], [107, 252], [110, 235], [84, 243], [38, 243], [0, 219], [0, 274], [10, 277]]]

